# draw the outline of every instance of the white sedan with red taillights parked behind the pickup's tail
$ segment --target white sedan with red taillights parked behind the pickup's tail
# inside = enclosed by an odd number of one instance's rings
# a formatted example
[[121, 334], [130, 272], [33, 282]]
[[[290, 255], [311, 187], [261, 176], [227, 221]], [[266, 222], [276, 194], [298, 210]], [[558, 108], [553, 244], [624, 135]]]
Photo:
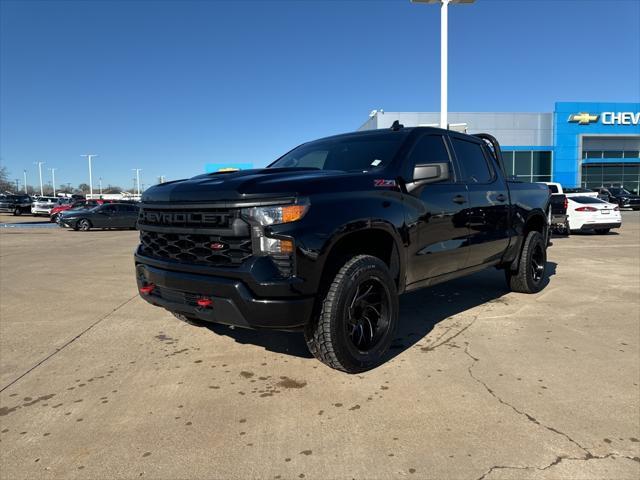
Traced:
[[595, 231], [606, 235], [612, 228], [620, 228], [622, 216], [617, 205], [596, 197], [567, 197], [569, 229], [574, 231]]

